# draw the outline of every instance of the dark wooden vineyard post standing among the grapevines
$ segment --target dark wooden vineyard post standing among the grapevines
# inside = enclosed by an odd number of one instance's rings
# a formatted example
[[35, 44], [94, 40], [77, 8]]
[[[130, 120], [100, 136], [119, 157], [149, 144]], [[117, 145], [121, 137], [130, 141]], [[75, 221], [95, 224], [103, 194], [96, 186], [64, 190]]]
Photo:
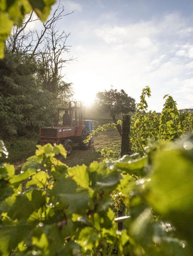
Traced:
[[[121, 135], [121, 157], [123, 155], [131, 155], [130, 148], [130, 127], [131, 127], [131, 116], [123, 115], [122, 135]], [[118, 217], [123, 217], [125, 214], [125, 208], [118, 210]], [[122, 230], [124, 227], [123, 222], [118, 222], [118, 230]]]

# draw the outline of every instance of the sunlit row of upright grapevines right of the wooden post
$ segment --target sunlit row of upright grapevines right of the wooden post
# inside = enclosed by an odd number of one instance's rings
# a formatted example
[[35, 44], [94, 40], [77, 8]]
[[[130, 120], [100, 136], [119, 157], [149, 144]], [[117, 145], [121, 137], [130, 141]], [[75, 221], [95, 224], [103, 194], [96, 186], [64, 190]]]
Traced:
[[175, 140], [185, 132], [193, 131], [193, 113], [180, 113], [172, 96], [164, 96], [166, 102], [160, 116], [155, 111], [148, 111], [145, 97], [150, 97], [150, 93], [148, 86], [142, 89], [140, 103], [137, 104], [137, 111], [131, 123], [132, 152], [139, 152], [141, 155], [145, 154], [149, 139]]

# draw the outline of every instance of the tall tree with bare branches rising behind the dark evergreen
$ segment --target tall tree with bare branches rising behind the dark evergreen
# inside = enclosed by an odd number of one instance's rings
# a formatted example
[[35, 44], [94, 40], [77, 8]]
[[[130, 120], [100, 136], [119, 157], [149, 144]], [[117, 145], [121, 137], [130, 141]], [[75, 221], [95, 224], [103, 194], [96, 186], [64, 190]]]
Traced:
[[72, 95], [71, 83], [62, 81], [61, 70], [66, 62], [72, 58], [64, 58], [70, 52], [67, 39], [70, 35], [56, 29], [58, 20], [70, 13], [65, 13], [64, 7], [59, 4], [52, 16], [48, 18], [42, 30], [32, 30], [28, 27], [35, 22], [33, 13], [28, 15], [21, 27], [15, 26], [8, 40], [6, 49], [8, 52], [21, 55], [29, 55], [38, 64], [36, 77], [42, 87], [53, 94], [55, 104], [57, 101], [66, 102]]

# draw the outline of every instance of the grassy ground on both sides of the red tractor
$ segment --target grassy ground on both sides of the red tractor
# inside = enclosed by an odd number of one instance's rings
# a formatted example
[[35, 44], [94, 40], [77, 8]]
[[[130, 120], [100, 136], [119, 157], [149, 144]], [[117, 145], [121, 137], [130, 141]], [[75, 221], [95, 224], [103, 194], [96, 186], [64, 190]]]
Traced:
[[[33, 135], [31, 138], [19, 137], [5, 140], [5, 146], [8, 149], [9, 157], [1, 157], [0, 162], [8, 162], [15, 165], [16, 170], [26, 162], [26, 159], [35, 154], [38, 135]], [[109, 128], [107, 131], [99, 132], [94, 137], [94, 143], [87, 150], [82, 150], [78, 145], [73, 145], [73, 150], [70, 156], [64, 159], [59, 156], [60, 160], [66, 165], [72, 167], [74, 165], [89, 165], [93, 161], [103, 161], [105, 156], [101, 155], [101, 150], [108, 147], [114, 152], [114, 159], [120, 157], [121, 152], [121, 137], [118, 131], [114, 128]]]

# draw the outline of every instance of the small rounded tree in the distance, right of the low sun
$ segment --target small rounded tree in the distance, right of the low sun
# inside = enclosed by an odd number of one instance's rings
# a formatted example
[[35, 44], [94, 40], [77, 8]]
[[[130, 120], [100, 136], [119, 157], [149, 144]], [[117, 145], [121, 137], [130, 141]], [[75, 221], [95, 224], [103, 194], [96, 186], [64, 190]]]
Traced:
[[122, 113], [127, 114], [135, 111], [135, 100], [128, 96], [122, 89], [111, 89], [109, 91], [99, 91], [96, 93], [96, 106], [101, 106], [110, 113], [114, 123], [116, 123], [116, 115]]

